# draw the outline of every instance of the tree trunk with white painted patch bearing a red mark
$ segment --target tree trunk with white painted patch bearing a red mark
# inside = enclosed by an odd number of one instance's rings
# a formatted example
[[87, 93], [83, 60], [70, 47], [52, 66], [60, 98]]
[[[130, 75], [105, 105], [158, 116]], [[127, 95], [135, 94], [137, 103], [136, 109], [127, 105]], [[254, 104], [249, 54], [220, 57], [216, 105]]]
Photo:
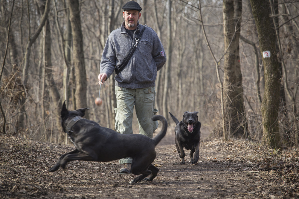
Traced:
[[278, 111], [280, 97], [280, 71], [275, 51], [275, 29], [270, 20], [269, 1], [250, 0], [257, 26], [265, 71], [265, 91], [262, 102], [263, 139], [272, 148], [280, 148]]

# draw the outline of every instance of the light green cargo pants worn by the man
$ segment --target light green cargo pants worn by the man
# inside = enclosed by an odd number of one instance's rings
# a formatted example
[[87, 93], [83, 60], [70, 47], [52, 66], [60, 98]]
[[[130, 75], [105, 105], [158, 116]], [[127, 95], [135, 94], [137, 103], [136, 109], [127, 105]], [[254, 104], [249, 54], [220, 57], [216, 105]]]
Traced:
[[[158, 121], [151, 118], [157, 113], [155, 109], [155, 86], [149, 88], [123, 88], [115, 86], [116, 104], [115, 129], [122, 134], [133, 134], [132, 120], [135, 105], [139, 125], [139, 134], [152, 138], [153, 132], [158, 128]], [[120, 164], [132, 163], [132, 158], [119, 160]]]

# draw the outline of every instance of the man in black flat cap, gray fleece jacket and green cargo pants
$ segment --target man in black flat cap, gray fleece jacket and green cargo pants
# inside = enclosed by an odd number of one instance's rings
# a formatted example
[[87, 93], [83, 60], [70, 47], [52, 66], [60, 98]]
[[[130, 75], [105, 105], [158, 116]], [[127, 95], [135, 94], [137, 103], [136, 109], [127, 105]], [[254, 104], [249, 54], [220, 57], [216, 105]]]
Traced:
[[[110, 33], [103, 50], [99, 84], [101, 80], [103, 84], [115, 68], [119, 67], [144, 27], [138, 22], [142, 9], [137, 2], [129, 1], [122, 8], [124, 22]], [[158, 122], [150, 119], [158, 111], [154, 108], [155, 80], [157, 71], [165, 62], [166, 55], [160, 39], [152, 28], [146, 27], [128, 64], [115, 76], [116, 131], [122, 134], [133, 133], [135, 105], [139, 133], [152, 138], [153, 132], [158, 128]], [[120, 164], [125, 165], [120, 169], [120, 173], [129, 173], [131, 163], [130, 157], [121, 159]]]

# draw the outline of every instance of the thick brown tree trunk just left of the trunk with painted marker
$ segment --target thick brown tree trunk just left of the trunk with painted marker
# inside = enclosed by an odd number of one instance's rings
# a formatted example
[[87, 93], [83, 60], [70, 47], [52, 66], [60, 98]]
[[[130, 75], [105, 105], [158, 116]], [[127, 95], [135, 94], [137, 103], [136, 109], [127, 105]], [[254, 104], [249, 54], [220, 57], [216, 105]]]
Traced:
[[244, 111], [242, 73], [239, 56], [242, 1], [223, 1], [224, 56], [224, 137], [247, 137], [247, 121]]

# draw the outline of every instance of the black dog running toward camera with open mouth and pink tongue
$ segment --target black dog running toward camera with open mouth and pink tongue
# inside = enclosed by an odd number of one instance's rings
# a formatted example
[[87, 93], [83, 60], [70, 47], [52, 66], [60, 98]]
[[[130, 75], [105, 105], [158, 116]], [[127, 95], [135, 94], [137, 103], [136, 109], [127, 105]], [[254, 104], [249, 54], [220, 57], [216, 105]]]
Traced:
[[183, 115], [183, 120], [179, 122], [176, 117], [169, 112], [171, 118], [176, 123], [174, 129], [176, 149], [181, 158], [181, 164], [185, 164], [184, 147], [190, 151], [191, 163], [196, 164], [199, 159], [199, 142], [200, 142], [200, 127], [201, 123], [198, 121], [198, 112], [189, 113], [186, 111]]

